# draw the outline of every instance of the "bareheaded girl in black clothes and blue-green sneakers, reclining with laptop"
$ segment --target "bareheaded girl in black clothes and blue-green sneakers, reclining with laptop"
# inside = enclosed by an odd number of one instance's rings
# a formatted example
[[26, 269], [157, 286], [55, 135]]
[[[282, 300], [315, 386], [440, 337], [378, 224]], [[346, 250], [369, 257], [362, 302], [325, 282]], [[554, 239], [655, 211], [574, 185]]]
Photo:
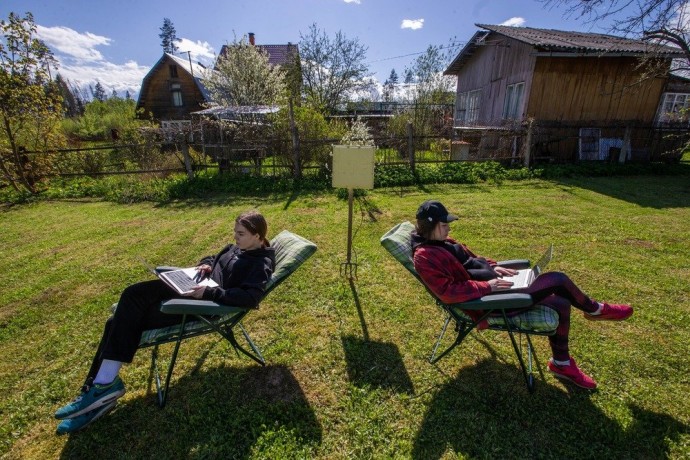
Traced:
[[[257, 307], [275, 267], [275, 252], [266, 240], [267, 231], [266, 220], [258, 212], [235, 219], [235, 244], [205, 257], [196, 267], [202, 277], [210, 277], [218, 286], [199, 286], [187, 296]], [[55, 413], [55, 418], [62, 420], [58, 434], [84, 428], [115, 406], [125, 394], [118, 375], [122, 363], [132, 362], [143, 331], [180, 324], [182, 316], [162, 313], [160, 304], [182, 297], [159, 279], [133, 284], [122, 292], [115, 313], [106, 321], [81, 394]]]

